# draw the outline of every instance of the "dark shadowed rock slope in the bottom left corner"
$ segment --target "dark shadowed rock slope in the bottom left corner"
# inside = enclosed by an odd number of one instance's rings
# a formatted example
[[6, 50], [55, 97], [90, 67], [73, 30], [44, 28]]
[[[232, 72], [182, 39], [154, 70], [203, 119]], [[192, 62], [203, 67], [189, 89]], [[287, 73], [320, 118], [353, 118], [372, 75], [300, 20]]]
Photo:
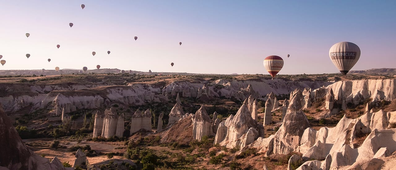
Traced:
[[62, 170], [56, 161], [40, 157], [21, 140], [0, 103], [0, 168], [10, 170]]

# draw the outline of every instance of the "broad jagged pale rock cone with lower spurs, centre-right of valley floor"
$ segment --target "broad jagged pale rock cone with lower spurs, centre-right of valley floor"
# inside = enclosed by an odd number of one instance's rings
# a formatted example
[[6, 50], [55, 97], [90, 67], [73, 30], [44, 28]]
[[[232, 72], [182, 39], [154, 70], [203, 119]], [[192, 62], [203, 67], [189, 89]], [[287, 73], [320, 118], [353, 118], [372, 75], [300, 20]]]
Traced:
[[[224, 133], [227, 132], [227, 133]], [[264, 128], [259, 125], [247, 109], [247, 104], [242, 104], [236, 115], [230, 116], [220, 123], [215, 136], [215, 144], [228, 148], [242, 147], [251, 144], [258, 137], [264, 136]]]

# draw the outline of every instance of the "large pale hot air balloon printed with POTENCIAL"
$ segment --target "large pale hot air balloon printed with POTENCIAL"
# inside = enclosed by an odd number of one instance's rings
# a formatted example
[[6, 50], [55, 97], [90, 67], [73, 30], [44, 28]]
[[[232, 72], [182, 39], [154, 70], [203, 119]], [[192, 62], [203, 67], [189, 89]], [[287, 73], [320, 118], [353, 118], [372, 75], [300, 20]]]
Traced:
[[331, 46], [329, 56], [331, 62], [345, 75], [358, 62], [360, 48], [351, 42], [339, 42]]

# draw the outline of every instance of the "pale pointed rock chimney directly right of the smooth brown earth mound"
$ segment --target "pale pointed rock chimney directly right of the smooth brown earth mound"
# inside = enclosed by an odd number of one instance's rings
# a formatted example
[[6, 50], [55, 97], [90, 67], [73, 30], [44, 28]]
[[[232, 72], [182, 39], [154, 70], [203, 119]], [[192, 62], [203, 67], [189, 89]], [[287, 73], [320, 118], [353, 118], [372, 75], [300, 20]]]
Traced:
[[213, 136], [212, 121], [202, 105], [192, 116], [192, 135], [196, 140], [201, 140], [202, 136]]

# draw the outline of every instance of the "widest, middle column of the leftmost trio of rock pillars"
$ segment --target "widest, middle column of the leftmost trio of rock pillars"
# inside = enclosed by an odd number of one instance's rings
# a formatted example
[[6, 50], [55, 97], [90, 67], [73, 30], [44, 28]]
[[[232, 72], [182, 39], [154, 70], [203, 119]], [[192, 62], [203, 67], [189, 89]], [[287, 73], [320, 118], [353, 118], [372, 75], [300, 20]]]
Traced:
[[113, 108], [105, 110], [105, 117], [103, 119], [102, 137], [110, 138], [116, 135], [118, 123], [118, 115]]

